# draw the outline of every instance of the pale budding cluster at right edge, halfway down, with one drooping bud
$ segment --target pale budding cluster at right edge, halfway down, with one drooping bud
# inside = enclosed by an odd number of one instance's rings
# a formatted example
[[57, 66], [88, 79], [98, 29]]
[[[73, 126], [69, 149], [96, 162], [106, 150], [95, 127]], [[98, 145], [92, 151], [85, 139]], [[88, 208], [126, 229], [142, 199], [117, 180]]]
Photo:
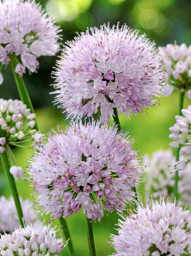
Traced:
[[176, 124], [169, 128], [172, 134], [170, 139], [175, 141], [170, 142], [170, 146], [180, 149], [180, 155], [186, 154], [186, 161], [180, 160], [176, 162], [176, 169], [184, 169], [186, 162], [191, 161], [191, 106], [188, 109], [182, 109], [182, 114], [185, 116], [175, 116]]

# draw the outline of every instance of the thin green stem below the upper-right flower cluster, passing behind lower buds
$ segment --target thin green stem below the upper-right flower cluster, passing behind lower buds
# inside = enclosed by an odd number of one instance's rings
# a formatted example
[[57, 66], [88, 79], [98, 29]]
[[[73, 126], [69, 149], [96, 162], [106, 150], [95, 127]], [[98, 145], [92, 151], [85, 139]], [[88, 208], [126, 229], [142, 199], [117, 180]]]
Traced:
[[[181, 109], [183, 109], [184, 96], [185, 96], [185, 92], [180, 92], [179, 106], [178, 106], [179, 116], [182, 116]], [[179, 152], [180, 152], [180, 147], [176, 149], [176, 162], [179, 160]], [[175, 171], [175, 185], [173, 187], [173, 194], [174, 194], [174, 197], [176, 198], [176, 201], [178, 201], [178, 170]]]

